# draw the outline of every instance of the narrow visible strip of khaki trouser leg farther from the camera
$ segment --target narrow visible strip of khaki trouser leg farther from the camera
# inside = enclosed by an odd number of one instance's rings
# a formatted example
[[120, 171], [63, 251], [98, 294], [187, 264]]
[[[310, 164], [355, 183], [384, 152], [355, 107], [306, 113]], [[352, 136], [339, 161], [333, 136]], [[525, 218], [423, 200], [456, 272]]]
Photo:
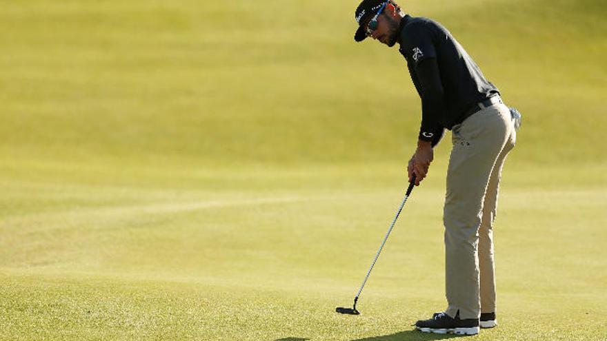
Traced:
[[497, 198], [499, 196], [499, 181], [501, 169], [504, 167], [506, 156], [516, 143], [516, 132], [512, 130], [508, 142], [497, 157], [492, 169], [489, 184], [483, 203], [483, 215], [479, 228], [479, 274], [481, 313], [495, 313], [495, 265], [493, 261], [493, 221], [497, 215]]

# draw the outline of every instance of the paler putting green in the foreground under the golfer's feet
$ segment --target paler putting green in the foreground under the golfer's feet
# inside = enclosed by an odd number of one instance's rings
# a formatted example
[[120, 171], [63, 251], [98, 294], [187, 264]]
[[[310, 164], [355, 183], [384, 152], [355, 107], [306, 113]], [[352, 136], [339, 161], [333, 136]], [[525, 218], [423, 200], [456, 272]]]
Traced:
[[[351, 304], [400, 200], [402, 179], [390, 169], [266, 169], [255, 180], [78, 169], [89, 176], [68, 185], [4, 183], [0, 335], [430, 340], [410, 324], [444, 308], [439, 176], [415, 189], [361, 298], [363, 315], [333, 312]], [[181, 185], [166, 182], [175, 174]], [[506, 171], [500, 326], [478, 338], [603, 340], [606, 184], [521, 187], [525, 174]], [[129, 178], [135, 185], [121, 184]], [[223, 189], [208, 188], [209, 178]]]

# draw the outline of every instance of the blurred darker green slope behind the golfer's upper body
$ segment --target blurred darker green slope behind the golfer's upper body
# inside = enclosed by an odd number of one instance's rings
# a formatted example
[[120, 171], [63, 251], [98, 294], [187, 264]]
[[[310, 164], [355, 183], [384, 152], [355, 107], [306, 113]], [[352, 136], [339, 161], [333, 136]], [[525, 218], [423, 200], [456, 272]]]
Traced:
[[[3, 161], [404, 163], [419, 98], [397, 49], [354, 43], [356, 6], [5, 1]], [[604, 3], [402, 6], [444, 23], [525, 115], [512, 162], [605, 162]]]

